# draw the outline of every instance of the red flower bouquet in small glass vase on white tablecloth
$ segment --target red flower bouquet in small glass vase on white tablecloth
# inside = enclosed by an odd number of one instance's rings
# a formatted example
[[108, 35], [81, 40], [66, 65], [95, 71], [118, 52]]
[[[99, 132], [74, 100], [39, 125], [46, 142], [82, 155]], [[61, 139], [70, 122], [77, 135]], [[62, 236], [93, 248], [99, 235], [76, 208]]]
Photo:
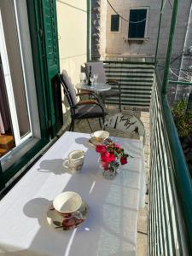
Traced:
[[96, 152], [101, 154], [100, 165], [104, 177], [115, 177], [119, 165], [125, 165], [128, 162], [129, 154], [125, 154], [124, 148], [121, 148], [118, 143], [113, 143], [110, 138], [98, 144]]

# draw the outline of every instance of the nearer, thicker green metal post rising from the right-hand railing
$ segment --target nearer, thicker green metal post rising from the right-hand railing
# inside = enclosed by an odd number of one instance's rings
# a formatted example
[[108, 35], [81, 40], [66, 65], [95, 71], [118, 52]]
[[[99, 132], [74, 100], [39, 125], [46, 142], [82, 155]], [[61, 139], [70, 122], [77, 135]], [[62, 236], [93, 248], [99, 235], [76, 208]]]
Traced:
[[168, 47], [166, 51], [166, 67], [165, 67], [165, 73], [164, 73], [162, 90], [161, 90], [162, 94], [166, 94], [166, 91], [167, 91], [167, 85], [168, 85], [168, 79], [169, 79], [169, 68], [170, 68], [170, 62], [172, 57], [172, 42], [174, 38], [175, 26], [176, 26], [176, 20], [177, 20], [177, 9], [178, 9], [178, 0], [174, 0], [173, 8], [172, 8], [172, 21], [171, 21], [171, 27], [170, 27], [170, 33], [169, 33], [169, 42], [168, 42]]

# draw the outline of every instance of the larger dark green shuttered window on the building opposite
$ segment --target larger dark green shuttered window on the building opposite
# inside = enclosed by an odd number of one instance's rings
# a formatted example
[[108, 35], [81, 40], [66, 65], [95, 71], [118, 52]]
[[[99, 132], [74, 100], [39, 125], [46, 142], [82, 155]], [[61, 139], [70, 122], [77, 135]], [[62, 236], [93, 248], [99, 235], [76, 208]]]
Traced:
[[[147, 18], [147, 9], [131, 9], [130, 10], [128, 38], [144, 38], [146, 18]], [[142, 21], [142, 22], [138, 22], [138, 21]]]

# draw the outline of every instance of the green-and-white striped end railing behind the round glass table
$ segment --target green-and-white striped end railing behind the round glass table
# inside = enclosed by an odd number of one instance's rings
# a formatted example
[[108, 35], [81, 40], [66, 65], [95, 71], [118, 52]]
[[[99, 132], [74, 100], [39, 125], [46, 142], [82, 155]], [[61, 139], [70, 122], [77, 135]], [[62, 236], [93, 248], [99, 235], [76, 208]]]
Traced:
[[[149, 108], [154, 79], [153, 62], [104, 61], [104, 67], [107, 78], [116, 79], [120, 84], [122, 105]], [[119, 104], [119, 97], [108, 98], [106, 103]]]

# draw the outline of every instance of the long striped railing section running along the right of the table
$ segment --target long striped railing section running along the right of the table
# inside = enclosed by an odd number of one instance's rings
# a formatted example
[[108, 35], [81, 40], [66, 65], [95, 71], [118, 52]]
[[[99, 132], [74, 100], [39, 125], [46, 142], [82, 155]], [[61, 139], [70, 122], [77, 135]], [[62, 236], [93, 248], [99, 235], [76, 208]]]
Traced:
[[191, 177], [156, 78], [150, 106], [148, 255], [191, 255]]

